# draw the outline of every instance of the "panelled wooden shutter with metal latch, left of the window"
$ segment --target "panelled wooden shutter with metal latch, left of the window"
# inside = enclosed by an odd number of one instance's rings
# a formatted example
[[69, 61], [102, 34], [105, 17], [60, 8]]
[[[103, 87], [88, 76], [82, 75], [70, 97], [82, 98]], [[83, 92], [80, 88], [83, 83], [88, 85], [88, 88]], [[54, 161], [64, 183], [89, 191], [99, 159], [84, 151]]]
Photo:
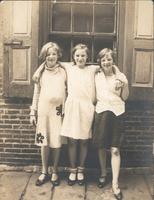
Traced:
[[3, 95], [32, 97], [38, 60], [39, 1], [5, 1]]

